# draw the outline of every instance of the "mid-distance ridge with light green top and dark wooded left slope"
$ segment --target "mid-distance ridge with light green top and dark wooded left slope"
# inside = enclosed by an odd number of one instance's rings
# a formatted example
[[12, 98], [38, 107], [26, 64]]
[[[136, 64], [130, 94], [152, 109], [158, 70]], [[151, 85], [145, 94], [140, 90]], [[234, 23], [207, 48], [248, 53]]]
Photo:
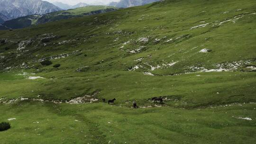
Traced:
[[[31, 16], [26, 16], [21, 18], [15, 18], [15, 19], [6, 21], [2, 25], [12, 29], [17, 29], [17, 28], [34, 26], [34, 25], [44, 24], [47, 22], [53, 22], [53, 21], [62, 20], [62, 19], [76, 18], [76, 17], [82, 17], [86, 15], [105, 13], [109, 11], [114, 11], [116, 9], [117, 8], [115, 7], [108, 7], [108, 6], [87, 6], [87, 7], [76, 8], [76, 9], [55, 11], [45, 15], [31, 15]], [[1, 28], [4, 28], [4, 27], [0, 27], [0, 29]]]

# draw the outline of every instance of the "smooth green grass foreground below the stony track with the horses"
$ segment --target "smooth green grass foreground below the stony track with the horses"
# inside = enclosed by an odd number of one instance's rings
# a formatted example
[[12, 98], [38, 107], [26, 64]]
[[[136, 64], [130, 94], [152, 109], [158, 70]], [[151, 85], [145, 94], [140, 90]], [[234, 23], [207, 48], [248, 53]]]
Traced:
[[1, 144], [253, 144], [256, 104], [124, 108], [104, 103], [0, 104]]

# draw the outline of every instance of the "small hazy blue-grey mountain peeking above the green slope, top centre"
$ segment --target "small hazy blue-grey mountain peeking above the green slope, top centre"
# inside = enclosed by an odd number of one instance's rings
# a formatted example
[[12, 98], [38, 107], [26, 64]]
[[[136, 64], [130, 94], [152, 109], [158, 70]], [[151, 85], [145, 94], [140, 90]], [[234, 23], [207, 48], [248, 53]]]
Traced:
[[109, 5], [117, 8], [128, 8], [134, 6], [142, 6], [156, 1], [160, 0], [120, 0], [119, 2], [111, 2]]

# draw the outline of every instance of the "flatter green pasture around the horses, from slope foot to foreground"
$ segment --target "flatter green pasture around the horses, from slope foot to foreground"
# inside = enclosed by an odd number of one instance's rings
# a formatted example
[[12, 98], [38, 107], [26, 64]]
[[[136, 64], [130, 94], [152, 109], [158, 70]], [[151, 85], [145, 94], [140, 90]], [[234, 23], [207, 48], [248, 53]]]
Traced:
[[[51, 80], [47, 74], [27, 73], [0, 74], [0, 121], [11, 124], [11, 129], [0, 132], [0, 144], [253, 144], [256, 140], [255, 72], [177, 76], [117, 72], [90, 76], [92, 81], [85, 81], [86, 76]], [[65, 82], [74, 85], [67, 95]], [[145, 84], [136, 85], [141, 82]], [[99, 90], [92, 95], [98, 100], [70, 104], [72, 92], [84, 91], [87, 84], [92, 91]], [[49, 86], [55, 92], [52, 97], [42, 94], [53, 92]], [[62, 99], [57, 101], [58, 93]], [[127, 99], [126, 93], [134, 95]], [[115, 96], [115, 105], [101, 102]], [[152, 103], [153, 96], [166, 96], [164, 104]], [[131, 108], [134, 99], [140, 108]]]

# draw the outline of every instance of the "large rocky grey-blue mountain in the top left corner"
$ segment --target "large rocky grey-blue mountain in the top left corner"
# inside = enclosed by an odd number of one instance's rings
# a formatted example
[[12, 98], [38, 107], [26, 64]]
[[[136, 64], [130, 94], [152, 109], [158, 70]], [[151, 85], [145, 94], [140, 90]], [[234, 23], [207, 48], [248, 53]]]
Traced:
[[27, 15], [43, 15], [58, 10], [61, 9], [42, 0], [0, 0], [0, 22]]

